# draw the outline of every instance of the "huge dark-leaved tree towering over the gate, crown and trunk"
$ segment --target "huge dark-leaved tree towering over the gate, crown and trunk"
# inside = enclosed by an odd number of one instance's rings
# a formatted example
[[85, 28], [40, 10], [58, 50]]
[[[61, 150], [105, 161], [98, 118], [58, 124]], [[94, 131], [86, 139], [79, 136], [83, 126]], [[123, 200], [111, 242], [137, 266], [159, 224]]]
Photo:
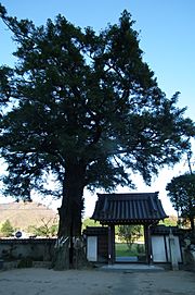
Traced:
[[150, 184], [158, 168], [180, 160], [194, 125], [177, 108], [178, 94], [168, 99], [142, 60], [127, 11], [100, 34], [62, 15], [36, 27], [0, 12], [18, 59], [0, 70], [4, 194], [51, 194], [44, 182], [52, 173], [60, 185], [53, 194], [62, 197], [55, 266], [68, 268], [73, 237], [81, 234], [83, 188], [133, 187], [131, 172]]

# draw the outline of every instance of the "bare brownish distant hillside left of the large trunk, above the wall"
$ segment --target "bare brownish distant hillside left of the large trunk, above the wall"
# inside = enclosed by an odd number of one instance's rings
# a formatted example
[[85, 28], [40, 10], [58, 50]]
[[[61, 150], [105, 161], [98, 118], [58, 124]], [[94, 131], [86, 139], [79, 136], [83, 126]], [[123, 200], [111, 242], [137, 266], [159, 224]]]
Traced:
[[41, 226], [42, 220], [57, 223], [57, 213], [47, 206], [38, 202], [10, 202], [0, 204], [0, 224], [10, 220], [13, 228], [27, 231], [29, 225]]

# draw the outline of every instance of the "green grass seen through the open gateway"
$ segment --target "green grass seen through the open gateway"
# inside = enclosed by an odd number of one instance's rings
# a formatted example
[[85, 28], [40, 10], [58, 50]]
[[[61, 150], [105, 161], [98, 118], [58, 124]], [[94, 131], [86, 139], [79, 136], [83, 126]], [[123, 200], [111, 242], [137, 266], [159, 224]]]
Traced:
[[133, 244], [131, 249], [129, 249], [126, 243], [116, 243], [116, 256], [141, 256], [145, 254], [145, 247], [143, 244]]

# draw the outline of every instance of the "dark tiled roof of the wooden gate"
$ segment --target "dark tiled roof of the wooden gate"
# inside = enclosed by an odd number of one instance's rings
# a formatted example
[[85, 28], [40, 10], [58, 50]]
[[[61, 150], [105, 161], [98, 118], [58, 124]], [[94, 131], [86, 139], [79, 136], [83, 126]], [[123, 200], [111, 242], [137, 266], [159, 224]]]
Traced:
[[153, 224], [167, 218], [158, 193], [98, 194], [92, 219], [102, 224]]

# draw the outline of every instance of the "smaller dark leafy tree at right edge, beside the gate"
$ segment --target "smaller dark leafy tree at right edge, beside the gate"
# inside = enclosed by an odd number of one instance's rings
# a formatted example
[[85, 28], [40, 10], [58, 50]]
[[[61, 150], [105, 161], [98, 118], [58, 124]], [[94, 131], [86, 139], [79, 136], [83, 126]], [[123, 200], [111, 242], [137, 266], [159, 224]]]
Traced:
[[178, 211], [179, 217], [183, 217], [191, 222], [191, 229], [194, 231], [195, 219], [195, 174], [183, 174], [173, 177], [167, 184], [168, 196]]

